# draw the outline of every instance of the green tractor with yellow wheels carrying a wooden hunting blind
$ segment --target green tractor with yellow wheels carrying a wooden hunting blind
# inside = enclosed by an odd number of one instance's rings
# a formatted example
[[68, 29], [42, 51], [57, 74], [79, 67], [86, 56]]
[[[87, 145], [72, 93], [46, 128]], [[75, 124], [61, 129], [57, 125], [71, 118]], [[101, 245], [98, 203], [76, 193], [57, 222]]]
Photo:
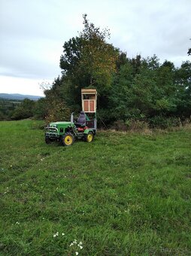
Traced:
[[64, 146], [70, 146], [75, 139], [83, 139], [92, 142], [97, 130], [95, 89], [82, 89], [82, 108], [77, 122], [74, 121], [73, 113], [68, 122], [54, 122], [46, 127], [45, 142], [60, 142]]

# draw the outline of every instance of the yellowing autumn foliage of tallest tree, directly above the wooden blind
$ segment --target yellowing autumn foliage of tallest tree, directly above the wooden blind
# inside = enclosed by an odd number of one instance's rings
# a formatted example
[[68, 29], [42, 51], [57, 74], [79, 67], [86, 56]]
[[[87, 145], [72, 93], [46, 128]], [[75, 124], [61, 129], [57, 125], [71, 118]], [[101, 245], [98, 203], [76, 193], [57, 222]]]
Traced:
[[80, 66], [89, 77], [89, 86], [95, 85], [99, 90], [104, 90], [111, 86], [118, 50], [106, 42], [110, 38], [108, 29], [100, 31], [93, 23], [89, 23], [86, 15], [83, 16], [83, 25], [83, 32], [80, 33], [83, 41]]

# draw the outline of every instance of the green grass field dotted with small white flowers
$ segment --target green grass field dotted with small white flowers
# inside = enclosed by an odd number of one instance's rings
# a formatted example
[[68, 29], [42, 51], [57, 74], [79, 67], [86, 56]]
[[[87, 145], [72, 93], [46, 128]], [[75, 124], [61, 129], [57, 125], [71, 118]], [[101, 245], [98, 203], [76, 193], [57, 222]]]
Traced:
[[62, 147], [35, 123], [0, 122], [1, 255], [191, 254], [191, 130]]

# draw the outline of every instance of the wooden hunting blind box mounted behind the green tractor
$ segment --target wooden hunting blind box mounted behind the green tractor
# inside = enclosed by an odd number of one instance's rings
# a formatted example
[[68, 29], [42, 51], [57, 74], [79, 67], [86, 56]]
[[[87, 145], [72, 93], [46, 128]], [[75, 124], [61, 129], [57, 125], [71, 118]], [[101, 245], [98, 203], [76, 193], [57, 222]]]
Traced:
[[81, 89], [82, 109], [86, 113], [96, 112], [97, 91], [96, 89]]

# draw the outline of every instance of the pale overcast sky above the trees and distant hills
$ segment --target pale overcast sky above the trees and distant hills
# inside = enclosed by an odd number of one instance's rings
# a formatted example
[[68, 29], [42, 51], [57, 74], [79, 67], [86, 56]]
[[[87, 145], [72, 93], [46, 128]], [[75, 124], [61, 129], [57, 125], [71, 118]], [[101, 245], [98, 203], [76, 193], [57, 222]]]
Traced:
[[89, 21], [111, 30], [129, 57], [156, 56], [180, 66], [191, 47], [191, 0], [0, 0], [0, 93], [43, 95], [60, 74], [62, 45]]

